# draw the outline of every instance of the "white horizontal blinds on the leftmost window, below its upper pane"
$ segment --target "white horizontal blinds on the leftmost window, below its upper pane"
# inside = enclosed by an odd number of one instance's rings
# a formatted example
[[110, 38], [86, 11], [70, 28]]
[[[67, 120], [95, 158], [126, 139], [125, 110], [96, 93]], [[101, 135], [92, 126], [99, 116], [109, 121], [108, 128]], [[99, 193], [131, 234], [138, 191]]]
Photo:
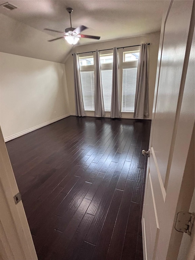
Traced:
[[94, 111], [94, 71], [80, 71], [84, 109]]

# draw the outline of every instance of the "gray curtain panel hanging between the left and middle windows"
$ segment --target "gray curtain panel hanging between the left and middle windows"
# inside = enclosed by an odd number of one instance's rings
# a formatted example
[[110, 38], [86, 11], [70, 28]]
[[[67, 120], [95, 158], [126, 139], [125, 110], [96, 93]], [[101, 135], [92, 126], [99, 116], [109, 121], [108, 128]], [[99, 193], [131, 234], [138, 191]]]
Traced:
[[98, 50], [95, 51], [95, 116], [103, 117], [105, 116], [104, 110], [104, 99], [101, 83], [101, 67], [100, 67], [100, 55]]

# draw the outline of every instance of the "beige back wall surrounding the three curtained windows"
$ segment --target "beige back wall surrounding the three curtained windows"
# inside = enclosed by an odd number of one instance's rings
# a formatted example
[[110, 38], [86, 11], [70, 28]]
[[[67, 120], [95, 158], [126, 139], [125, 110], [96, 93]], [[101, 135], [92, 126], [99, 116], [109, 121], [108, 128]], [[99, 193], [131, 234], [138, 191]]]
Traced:
[[[96, 49], [101, 50], [101, 49], [108, 49], [113, 47], [139, 45], [144, 42], [150, 43], [150, 46], [148, 46], [148, 53], [149, 53], [149, 79], [148, 80], [149, 80], [149, 116], [151, 118], [153, 101], [154, 101], [154, 89], [155, 89], [156, 69], [157, 69], [157, 60], [158, 60], [159, 40], [160, 40], [160, 32], [146, 34], [137, 37], [125, 38], [125, 39], [117, 39], [117, 40], [105, 41], [99, 43], [97, 42], [88, 45], [78, 45], [74, 48], [73, 52], [77, 52], [77, 53], [89, 52], [89, 51], [95, 51]], [[90, 55], [90, 53], [88, 55]], [[69, 58], [66, 60], [65, 66], [66, 66], [67, 87], [68, 87], [69, 103], [70, 103], [70, 113], [75, 114], [72, 55], [69, 55]], [[88, 114], [92, 115], [94, 113], [89, 112]], [[127, 118], [133, 118], [133, 113], [128, 113]]]

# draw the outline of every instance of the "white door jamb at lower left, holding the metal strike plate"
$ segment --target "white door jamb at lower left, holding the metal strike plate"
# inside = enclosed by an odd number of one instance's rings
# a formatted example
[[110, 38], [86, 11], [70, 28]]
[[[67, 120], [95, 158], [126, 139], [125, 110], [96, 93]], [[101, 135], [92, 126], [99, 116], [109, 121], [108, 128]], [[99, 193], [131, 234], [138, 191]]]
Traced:
[[37, 260], [22, 201], [0, 127], [0, 259]]

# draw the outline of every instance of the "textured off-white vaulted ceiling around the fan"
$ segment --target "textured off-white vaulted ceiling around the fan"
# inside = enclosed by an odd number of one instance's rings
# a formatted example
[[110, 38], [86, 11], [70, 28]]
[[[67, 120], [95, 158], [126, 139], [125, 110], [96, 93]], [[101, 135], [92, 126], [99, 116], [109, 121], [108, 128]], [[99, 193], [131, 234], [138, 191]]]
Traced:
[[[64, 63], [72, 46], [64, 39], [48, 42], [70, 27], [66, 8], [73, 8], [72, 25], [88, 27], [83, 34], [99, 41], [157, 32], [161, 28], [161, 0], [10, 0], [17, 9], [5, 9], [0, 0], [0, 51]], [[79, 44], [97, 40], [81, 38]]]

